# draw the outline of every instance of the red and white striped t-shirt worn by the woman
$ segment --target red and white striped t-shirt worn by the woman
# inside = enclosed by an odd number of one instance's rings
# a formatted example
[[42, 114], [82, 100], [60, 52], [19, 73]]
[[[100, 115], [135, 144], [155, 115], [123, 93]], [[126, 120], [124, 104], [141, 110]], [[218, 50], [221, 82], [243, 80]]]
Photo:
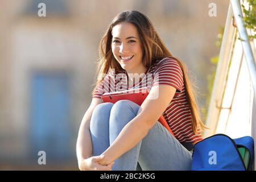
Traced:
[[[172, 132], [180, 142], [196, 143], [203, 139], [200, 129], [198, 134], [192, 131], [191, 110], [185, 93], [183, 72], [177, 61], [171, 58], [156, 60], [151, 65], [146, 76], [141, 78], [136, 85], [127, 85], [125, 70], [111, 71], [104, 77], [104, 80], [97, 86], [93, 93], [93, 98], [101, 98], [101, 95], [109, 92], [118, 92], [129, 89], [147, 87], [150, 91], [155, 85], [171, 85], [176, 88], [176, 93], [172, 101], [163, 113]], [[134, 81], [136, 82], [136, 81]]]

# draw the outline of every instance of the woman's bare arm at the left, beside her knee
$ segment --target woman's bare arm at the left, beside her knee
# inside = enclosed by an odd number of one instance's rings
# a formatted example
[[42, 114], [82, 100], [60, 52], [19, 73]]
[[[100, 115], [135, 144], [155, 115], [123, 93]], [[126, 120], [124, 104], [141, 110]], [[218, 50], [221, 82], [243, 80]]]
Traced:
[[90, 119], [92, 117], [94, 108], [101, 103], [102, 101], [100, 98], [93, 98], [88, 110], [85, 112], [84, 117], [82, 118], [76, 143], [76, 155], [79, 165], [81, 164], [82, 160], [90, 158], [92, 155]]

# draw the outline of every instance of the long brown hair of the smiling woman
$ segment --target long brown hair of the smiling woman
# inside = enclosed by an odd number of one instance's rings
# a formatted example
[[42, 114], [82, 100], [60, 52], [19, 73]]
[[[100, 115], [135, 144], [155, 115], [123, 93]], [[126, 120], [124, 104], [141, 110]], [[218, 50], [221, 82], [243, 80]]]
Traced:
[[[111, 47], [112, 29], [117, 24], [123, 22], [132, 23], [137, 28], [143, 48], [142, 63], [144, 67], [149, 69], [156, 60], [162, 60], [165, 57], [170, 57], [177, 61], [183, 71], [185, 91], [187, 93], [188, 104], [191, 107], [193, 133], [197, 134], [197, 129], [208, 129], [208, 127], [206, 127], [201, 121], [199, 107], [197, 106], [195, 96], [193, 94], [194, 90], [187, 76], [187, 68], [179, 59], [172, 56], [166, 46], [164, 46], [163, 41], [156, 33], [150, 19], [138, 11], [123, 11], [115, 16], [113, 21], [110, 23], [105, 35], [101, 39], [99, 46], [100, 61], [98, 61], [97, 76], [106, 75], [112, 69], [123, 70], [118, 61], [115, 60]], [[92, 94], [102, 80], [104, 80], [104, 77], [97, 79], [95, 84], [96, 86], [94, 86]]]

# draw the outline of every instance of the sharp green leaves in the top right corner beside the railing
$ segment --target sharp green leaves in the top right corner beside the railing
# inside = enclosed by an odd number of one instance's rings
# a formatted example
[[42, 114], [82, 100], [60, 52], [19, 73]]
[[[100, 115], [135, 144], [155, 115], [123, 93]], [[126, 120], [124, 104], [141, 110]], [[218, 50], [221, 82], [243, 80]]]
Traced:
[[[249, 3], [249, 9], [246, 10], [245, 6], [242, 5], [242, 11], [244, 13], [243, 21], [245, 27], [256, 32], [256, 0], [246, 0]], [[249, 39], [253, 40], [256, 38], [256, 34], [249, 35]]]

